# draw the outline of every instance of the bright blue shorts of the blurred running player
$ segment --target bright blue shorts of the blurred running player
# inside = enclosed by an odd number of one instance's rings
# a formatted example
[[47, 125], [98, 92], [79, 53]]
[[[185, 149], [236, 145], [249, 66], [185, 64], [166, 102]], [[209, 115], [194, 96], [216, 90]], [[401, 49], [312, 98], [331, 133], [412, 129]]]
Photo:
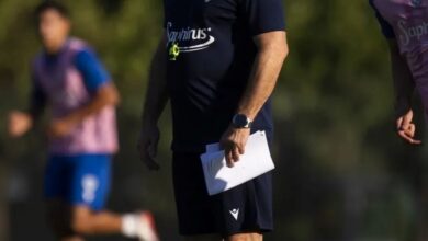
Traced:
[[45, 171], [45, 198], [101, 210], [110, 191], [111, 161], [111, 154], [50, 156]]

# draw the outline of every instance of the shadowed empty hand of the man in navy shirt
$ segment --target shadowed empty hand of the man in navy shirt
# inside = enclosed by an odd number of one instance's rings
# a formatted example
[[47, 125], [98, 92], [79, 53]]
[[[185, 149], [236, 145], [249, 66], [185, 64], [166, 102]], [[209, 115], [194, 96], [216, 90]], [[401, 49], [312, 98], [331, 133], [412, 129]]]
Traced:
[[156, 125], [150, 127], [143, 127], [142, 133], [139, 134], [137, 144], [139, 158], [150, 170], [160, 169], [159, 164], [156, 162], [159, 137], [160, 131]]

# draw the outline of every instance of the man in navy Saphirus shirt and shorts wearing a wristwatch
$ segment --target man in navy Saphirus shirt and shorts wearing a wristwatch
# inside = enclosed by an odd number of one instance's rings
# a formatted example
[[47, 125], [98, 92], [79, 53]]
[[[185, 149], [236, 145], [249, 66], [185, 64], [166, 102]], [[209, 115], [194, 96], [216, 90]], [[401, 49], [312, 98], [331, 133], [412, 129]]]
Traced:
[[138, 144], [150, 169], [168, 100], [173, 184], [187, 240], [262, 240], [272, 230], [271, 173], [209, 196], [200, 154], [221, 141], [233, 168], [250, 133], [272, 139], [270, 95], [288, 55], [281, 0], [165, 0]]

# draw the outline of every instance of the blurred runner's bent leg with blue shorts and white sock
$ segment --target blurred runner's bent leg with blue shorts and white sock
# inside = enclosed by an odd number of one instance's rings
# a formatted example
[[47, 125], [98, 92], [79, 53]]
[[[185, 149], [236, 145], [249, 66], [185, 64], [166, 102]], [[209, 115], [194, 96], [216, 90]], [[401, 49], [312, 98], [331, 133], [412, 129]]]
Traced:
[[104, 209], [110, 191], [110, 156], [79, 156], [72, 162], [69, 222], [74, 232], [82, 236], [122, 233], [145, 241], [158, 240], [150, 213], [119, 215]]

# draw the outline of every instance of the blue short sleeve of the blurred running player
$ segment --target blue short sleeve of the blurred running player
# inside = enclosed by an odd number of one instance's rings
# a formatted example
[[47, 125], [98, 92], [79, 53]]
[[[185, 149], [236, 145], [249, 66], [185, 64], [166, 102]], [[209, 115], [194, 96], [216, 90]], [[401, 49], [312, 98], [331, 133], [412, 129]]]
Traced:
[[79, 51], [76, 55], [75, 65], [82, 74], [89, 93], [97, 93], [102, 85], [111, 80], [109, 72], [98, 59], [95, 53], [90, 49]]

